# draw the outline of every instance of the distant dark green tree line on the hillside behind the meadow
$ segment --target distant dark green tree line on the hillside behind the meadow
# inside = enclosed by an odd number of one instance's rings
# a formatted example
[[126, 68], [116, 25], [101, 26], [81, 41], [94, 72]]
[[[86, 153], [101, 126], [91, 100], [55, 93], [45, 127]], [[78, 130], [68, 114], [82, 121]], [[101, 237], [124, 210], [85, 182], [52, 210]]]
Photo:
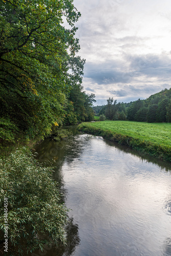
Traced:
[[[138, 122], [171, 122], [171, 88], [164, 89], [144, 100], [121, 103], [113, 98], [103, 106], [94, 106], [95, 115], [109, 120]], [[103, 115], [103, 116], [102, 116]]]

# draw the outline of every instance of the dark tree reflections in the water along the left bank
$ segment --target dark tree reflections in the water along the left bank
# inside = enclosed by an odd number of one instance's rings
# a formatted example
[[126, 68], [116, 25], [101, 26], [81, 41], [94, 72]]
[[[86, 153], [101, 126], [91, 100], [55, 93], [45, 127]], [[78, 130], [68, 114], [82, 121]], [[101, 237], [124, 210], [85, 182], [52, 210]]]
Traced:
[[[45, 139], [37, 145], [35, 151], [38, 152], [36, 158], [41, 163], [51, 163], [55, 167], [54, 178], [60, 186], [60, 191], [63, 194], [61, 202], [65, 203], [67, 196], [67, 190], [63, 185], [61, 167], [63, 162], [71, 163], [74, 159], [78, 159], [83, 152], [83, 143], [75, 127], [69, 127], [70, 131], [73, 132], [67, 139], [56, 142], [50, 138]], [[57, 247], [54, 245], [51, 249], [45, 250], [46, 256], [69, 256], [75, 250], [75, 247], [79, 244], [79, 233], [78, 225], [74, 223], [73, 218], [69, 219], [68, 225], [66, 226], [67, 245], [64, 246], [59, 244]], [[44, 253], [42, 252], [42, 253]], [[41, 255], [41, 252], [35, 252], [35, 255]]]

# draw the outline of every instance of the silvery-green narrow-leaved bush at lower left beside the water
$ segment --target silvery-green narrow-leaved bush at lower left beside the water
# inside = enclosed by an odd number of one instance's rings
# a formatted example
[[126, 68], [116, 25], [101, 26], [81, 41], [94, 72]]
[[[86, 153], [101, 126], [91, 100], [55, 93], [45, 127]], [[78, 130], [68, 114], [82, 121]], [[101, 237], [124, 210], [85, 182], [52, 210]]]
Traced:
[[[4, 198], [8, 198], [8, 234], [11, 255], [26, 254], [49, 244], [66, 243], [67, 209], [60, 204], [51, 167], [43, 167], [17, 150], [6, 160], [0, 159], [0, 234], [4, 232]], [[24, 254], [24, 255], [25, 255]]]

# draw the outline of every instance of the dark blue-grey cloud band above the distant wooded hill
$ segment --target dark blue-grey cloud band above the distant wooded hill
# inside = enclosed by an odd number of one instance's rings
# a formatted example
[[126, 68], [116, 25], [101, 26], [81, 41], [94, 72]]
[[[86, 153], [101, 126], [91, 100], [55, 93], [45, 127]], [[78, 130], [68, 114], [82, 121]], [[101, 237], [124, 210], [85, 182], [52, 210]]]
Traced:
[[87, 63], [84, 76], [98, 84], [131, 83], [142, 75], [145, 75], [146, 79], [151, 77], [156, 77], [160, 81], [170, 79], [171, 59], [167, 55], [127, 56], [126, 60], [130, 62], [130, 69], [127, 72], [124, 71], [125, 64], [121, 61], [119, 63], [106, 60], [101, 64]]

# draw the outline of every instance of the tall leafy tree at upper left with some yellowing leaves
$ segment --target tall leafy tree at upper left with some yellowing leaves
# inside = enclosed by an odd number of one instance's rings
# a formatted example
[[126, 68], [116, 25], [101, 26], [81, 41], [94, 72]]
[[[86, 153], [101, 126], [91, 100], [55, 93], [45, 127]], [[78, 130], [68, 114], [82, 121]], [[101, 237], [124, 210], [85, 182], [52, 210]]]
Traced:
[[44, 136], [63, 121], [66, 93], [82, 80], [80, 13], [73, 0], [0, 0], [0, 16], [0, 117], [28, 137]]

